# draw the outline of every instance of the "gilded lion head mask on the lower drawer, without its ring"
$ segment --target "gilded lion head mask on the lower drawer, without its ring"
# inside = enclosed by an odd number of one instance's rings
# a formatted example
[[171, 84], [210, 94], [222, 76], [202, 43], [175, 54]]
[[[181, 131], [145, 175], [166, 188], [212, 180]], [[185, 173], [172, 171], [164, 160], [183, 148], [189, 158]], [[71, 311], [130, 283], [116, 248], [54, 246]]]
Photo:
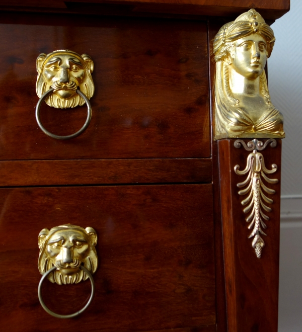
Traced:
[[39, 234], [38, 268], [45, 274], [53, 266], [56, 270], [49, 274], [52, 283], [74, 284], [86, 280], [88, 275], [81, 269], [84, 266], [94, 274], [98, 267], [95, 249], [97, 233], [92, 227], [61, 225], [50, 230], [44, 228]]

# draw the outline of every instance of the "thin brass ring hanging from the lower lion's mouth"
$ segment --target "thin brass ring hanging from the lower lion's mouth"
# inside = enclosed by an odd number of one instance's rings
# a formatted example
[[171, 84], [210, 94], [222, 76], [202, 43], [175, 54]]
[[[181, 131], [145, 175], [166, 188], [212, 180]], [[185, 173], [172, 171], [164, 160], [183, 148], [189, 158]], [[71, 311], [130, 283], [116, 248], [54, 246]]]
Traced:
[[93, 277], [91, 275], [91, 273], [84, 267], [84, 266], [80, 266], [80, 269], [83, 270], [89, 277], [90, 279], [90, 282], [91, 282], [91, 295], [90, 295], [90, 298], [88, 300], [88, 302], [86, 303], [86, 305], [79, 311], [77, 312], [74, 312], [74, 313], [71, 313], [69, 315], [60, 315], [58, 313], [55, 313], [53, 311], [51, 311], [50, 309], [48, 309], [48, 307], [46, 306], [46, 304], [44, 303], [43, 301], [43, 298], [42, 298], [42, 292], [41, 292], [41, 289], [42, 289], [42, 284], [43, 284], [43, 281], [47, 278], [47, 276], [51, 273], [51, 272], [54, 272], [57, 268], [54, 266], [53, 268], [49, 269], [46, 273], [43, 274], [40, 282], [39, 282], [39, 286], [38, 286], [38, 296], [39, 296], [39, 301], [43, 307], [43, 309], [48, 312], [50, 315], [56, 317], [56, 318], [72, 318], [72, 317], [76, 317], [78, 315], [80, 315], [83, 311], [85, 311], [90, 303], [92, 302], [93, 300], [93, 297], [94, 297], [94, 294], [95, 294], [95, 284], [94, 284], [94, 280], [93, 280]]

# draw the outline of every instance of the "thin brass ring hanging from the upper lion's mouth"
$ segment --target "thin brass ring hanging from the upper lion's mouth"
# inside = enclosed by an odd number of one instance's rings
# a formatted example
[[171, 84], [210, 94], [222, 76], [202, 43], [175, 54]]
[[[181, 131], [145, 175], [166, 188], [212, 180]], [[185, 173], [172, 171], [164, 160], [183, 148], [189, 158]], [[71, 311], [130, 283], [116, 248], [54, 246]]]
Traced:
[[41, 104], [44, 101], [44, 99], [46, 99], [50, 94], [52, 94], [53, 91], [54, 91], [54, 89], [50, 88], [48, 91], [45, 92], [44, 95], [42, 95], [42, 97], [39, 99], [39, 101], [37, 103], [37, 106], [36, 106], [36, 119], [37, 119], [37, 122], [38, 122], [38, 125], [39, 125], [40, 129], [44, 132], [44, 134], [46, 134], [46, 135], [48, 135], [52, 138], [55, 138], [55, 139], [70, 139], [70, 138], [75, 138], [75, 137], [81, 135], [87, 129], [87, 127], [89, 126], [92, 111], [91, 111], [91, 105], [90, 105], [90, 102], [89, 102], [88, 98], [79, 89], [77, 90], [77, 94], [80, 95], [85, 100], [85, 103], [87, 105], [87, 111], [88, 111], [87, 112], [87, 119], [86, 119], [86, 122], [85, 122], [84, 126], [79, 131], [77, 131], [76, 133], [71, 134], [71, 135], [67, 135], [67, 136], [59, 136], [59, 135], [52, 134], [51, 132], [49, 132], [48, 130], [46, 130], [43, 127], [42, 122], [40, 120], [40, 107], [41, 107]]

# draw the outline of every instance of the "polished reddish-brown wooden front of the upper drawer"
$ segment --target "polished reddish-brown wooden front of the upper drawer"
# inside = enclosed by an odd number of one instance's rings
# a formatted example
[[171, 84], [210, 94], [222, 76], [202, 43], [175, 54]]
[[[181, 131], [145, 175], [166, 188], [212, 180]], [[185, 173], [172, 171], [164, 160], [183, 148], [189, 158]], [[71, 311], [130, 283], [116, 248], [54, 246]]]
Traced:
[[[16, 15], [0, 17], [0, 159], [210, 156], [206, 23]], [[68, 141], [46, 136], [34, 112], [36, 58], [58, 49], [95, 65], [92, 121]], [[43, 103], [41, 119], [68, 135], [86, 113]]]

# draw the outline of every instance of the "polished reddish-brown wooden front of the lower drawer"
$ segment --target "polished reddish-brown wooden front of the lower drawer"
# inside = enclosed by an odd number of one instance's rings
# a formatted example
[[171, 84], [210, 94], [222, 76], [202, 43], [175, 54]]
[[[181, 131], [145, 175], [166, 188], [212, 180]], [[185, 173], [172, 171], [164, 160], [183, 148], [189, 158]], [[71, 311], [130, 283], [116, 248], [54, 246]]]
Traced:
[[[3, 330], [214, 331], [210, 184], [0, 189], [0, 211]], [[50, 316], [37, 296], [38, 234], [65, 223], [99, 237], [96, 295], [74, 319]], [[43, 287], [46, 304], [64, 314], [89, 294], [89, 282]]]

